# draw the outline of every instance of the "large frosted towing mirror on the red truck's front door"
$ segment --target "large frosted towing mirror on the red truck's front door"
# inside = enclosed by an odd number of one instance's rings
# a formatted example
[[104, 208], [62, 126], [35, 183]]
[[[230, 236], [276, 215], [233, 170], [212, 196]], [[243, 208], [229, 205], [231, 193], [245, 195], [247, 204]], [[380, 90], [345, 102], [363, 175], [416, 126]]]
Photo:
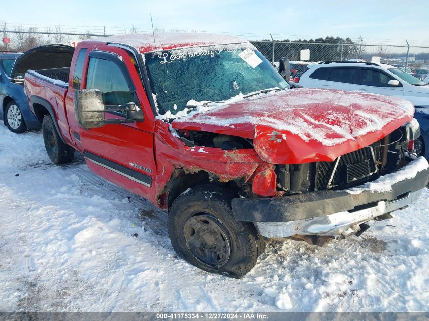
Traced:
[[[134, 102], [126, 105], [105, 106], [102, 94], [98, 89], [81, 89], [75, 91], [75, 115], [82, 128], [98, 128], [106, 124], [134, 123], [143, 121], [142, 111]], [[106, 119], [106, 112], [125, 111], [125, 119]]]

